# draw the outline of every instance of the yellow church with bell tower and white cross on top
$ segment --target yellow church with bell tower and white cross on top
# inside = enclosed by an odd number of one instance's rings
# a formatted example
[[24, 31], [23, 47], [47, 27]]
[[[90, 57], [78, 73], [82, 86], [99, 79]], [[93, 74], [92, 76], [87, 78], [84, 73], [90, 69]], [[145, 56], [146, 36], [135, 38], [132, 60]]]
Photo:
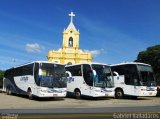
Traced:
[[62, 48], [48, 52], [48, 61], [61, 64], [77, 64], [92, 62], [92, 55], [79, 49], [79, 30], [73, 24], [75, 14], [71, 12], [70, 24], [63, 32]]

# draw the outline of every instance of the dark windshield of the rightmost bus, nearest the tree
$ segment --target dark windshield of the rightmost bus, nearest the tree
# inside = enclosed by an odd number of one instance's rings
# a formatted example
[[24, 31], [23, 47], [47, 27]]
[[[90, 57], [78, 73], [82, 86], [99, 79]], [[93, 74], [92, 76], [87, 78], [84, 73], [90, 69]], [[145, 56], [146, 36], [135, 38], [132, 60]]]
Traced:
[[141, 77], [140, 85], [155, 86], [156, 84], [152, 67], [146, 65], [138, 65], [137, 67]]

